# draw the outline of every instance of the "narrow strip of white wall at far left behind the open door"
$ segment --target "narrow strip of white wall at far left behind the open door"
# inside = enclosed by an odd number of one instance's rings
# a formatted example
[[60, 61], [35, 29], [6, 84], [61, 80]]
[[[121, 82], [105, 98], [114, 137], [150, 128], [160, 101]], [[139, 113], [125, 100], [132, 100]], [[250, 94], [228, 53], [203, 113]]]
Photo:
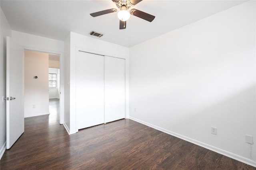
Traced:
[[0, 158], [6, 149], [6, 36], [12, 36], [12, 31], [4, 13], [0, 13]]

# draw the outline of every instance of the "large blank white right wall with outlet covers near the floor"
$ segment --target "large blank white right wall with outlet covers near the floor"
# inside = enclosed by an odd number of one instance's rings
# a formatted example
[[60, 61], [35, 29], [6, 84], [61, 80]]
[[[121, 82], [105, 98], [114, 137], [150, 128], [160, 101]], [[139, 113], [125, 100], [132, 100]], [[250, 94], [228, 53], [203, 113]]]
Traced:
[[131, 47], [130, 118], [256, 166], [255, 7], [246, 2]]

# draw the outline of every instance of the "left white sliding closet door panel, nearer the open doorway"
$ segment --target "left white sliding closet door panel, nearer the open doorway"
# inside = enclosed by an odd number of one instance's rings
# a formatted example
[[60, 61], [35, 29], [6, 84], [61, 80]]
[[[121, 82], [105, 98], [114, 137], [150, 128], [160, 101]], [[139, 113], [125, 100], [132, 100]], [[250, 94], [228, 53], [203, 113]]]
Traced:
[[76, 116], [78, 129], [104, 123], [104, 56], [76, 56]]

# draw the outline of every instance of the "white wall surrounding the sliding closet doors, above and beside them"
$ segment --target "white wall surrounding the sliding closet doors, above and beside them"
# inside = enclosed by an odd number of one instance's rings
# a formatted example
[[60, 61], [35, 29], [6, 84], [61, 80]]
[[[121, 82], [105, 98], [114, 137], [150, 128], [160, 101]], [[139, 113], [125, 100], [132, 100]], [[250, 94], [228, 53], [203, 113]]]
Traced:
[[[76, 52], [78, 49], [126, 59], [126, 85], [128, 85], [129, 49], [113, 43], [70, 33], [70, 134], [76, 133]], [[66, 76], [66, 75], [65, 75]], [[126, 113], [128, 113], [128, 86], [126, 86]], [[127, 114], [128, 115], [128, 114]]]

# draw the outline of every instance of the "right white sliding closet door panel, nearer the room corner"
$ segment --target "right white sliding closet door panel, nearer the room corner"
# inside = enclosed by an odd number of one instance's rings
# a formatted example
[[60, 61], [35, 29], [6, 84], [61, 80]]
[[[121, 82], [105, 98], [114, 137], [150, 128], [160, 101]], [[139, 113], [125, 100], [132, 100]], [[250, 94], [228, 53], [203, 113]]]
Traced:
[[125, 60], [105, 56], [105, 123], [125, 116]]

